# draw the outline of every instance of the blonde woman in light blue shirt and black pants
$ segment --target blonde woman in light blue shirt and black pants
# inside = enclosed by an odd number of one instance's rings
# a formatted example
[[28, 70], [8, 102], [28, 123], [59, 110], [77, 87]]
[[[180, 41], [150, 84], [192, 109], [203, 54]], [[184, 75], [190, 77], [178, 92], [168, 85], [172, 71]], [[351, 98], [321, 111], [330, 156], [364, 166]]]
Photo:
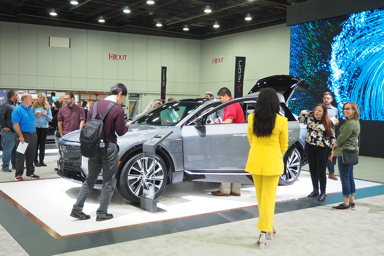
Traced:
[[[33, 102], [33, 112], [35, 113], [35, 127], [37, 133], [35, 166], [47, 166], [44, 163], [45, 140], [48, 134], [48, 122], [52, 120], [51, 106], [43, 92], [37, 94], [37, 101]], [[40, 162], [37, 160], [37, 152], [40, 146]]]

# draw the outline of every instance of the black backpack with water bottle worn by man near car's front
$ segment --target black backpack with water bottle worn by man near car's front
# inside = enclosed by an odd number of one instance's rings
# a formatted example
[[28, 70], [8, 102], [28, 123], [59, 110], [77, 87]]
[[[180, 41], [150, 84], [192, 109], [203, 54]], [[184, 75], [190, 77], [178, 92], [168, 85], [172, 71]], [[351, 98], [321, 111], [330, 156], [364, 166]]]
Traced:
[[[106, 118], [109, 110], [114, 105], [118, 105], [116, 102], [109, 103], [108, 107], [104, 111], [103, 116], [100, 118], [100, 114], [97, 113], [96, 101], [93, 106], [92, 119], [84, 124], [80, 132], [80, 152], [83, 157], [91, 159], [101, 159], [106, 155], [108, 148], [108, 141], [104, 142], [104, 147], [100, 147], [100, 140], [104, 140], [104, 123], [103, 120]], [[111, 134], [112, 135], [112, 134]], [[110, 139], [111, 137], [109, 137]]]

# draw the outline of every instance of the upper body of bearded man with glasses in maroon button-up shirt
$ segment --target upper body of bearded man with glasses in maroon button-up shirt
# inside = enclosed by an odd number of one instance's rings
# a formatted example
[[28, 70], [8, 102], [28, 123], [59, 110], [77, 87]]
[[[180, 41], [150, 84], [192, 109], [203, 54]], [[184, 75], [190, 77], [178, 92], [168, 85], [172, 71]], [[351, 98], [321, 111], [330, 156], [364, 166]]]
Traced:
[[61, 107], [57, 114], [57, 126], [61, 136], [73, 132], [74, 130], [81, 129], [85, 124], [84, 109], [73, 102], [73, 93], [67, 92], [64, 95], [63, 100], [66, 105]]

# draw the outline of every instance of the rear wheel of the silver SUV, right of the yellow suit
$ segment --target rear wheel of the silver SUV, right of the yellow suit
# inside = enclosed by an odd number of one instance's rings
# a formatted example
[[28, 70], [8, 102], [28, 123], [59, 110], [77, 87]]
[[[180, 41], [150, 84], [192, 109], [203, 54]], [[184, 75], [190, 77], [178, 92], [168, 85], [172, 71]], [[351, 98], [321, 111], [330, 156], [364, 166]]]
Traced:
[[297, 148], [290, 150], [284, 156], [286, 175], [280, 175], [279, 185], [291, 185], [297, 180], [301, 172], [302, 159]]

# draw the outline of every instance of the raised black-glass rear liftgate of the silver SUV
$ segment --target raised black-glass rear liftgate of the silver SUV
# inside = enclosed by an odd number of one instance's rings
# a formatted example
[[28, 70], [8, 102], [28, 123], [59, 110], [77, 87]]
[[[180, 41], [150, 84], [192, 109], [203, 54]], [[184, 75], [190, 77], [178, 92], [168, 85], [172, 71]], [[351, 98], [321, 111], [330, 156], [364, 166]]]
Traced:
[[255, 86], [248, 92], [249, 94], [260, 92], [264, 88], [273, 88], [277, 93], [283, 95], [285, 104], [288, 104], [290, 97], [295, 91], [308, 90], [313, 88], [305, 80], [297, 78], [295, 76], [277, 75], [268, 76], [266, 78], [257, 81]]

